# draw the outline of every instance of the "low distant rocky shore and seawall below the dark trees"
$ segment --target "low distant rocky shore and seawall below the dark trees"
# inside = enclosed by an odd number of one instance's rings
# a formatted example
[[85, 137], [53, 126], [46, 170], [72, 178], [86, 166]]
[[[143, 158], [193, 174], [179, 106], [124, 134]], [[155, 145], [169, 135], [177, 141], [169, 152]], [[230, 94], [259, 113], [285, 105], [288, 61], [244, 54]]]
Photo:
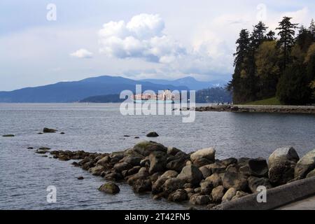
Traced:
[[315, 114], [315, 106], [250, 106], [212, 105], [196, 107], [195, 111], [248, 112], [248, 113], [309, 113]]

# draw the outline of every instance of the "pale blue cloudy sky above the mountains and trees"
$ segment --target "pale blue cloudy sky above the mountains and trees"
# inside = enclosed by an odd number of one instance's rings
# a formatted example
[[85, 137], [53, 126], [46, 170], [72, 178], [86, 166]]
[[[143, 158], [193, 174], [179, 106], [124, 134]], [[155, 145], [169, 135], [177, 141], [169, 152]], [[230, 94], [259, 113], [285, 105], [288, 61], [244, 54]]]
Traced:
[[241, 29], [314, 15], [313, 0], [1, 0], [0, 91], [102, 75], [230, 80]]

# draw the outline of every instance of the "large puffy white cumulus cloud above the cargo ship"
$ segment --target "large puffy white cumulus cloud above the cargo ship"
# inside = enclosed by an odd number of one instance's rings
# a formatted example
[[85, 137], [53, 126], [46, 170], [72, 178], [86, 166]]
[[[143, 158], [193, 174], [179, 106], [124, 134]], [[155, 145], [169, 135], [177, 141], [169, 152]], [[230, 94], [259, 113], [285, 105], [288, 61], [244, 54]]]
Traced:
[[139, 14], [129, 22], [108, 22], [99, 30], [100, 52], [118, 58], [142, 58], [148, 62], [170, 63], [185, 48], [163, 34], [160, 15]]

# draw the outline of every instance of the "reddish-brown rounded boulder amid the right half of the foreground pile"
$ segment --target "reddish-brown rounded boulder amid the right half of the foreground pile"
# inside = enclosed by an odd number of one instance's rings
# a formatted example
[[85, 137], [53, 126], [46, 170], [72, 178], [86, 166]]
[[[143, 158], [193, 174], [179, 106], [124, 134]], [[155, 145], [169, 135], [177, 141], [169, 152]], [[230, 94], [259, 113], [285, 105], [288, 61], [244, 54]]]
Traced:
[[226, 172], [222, 180], [223, 186], [226, 189], [235, 188], [236, 190], [246, 190], [247, 176], [241, 173]]

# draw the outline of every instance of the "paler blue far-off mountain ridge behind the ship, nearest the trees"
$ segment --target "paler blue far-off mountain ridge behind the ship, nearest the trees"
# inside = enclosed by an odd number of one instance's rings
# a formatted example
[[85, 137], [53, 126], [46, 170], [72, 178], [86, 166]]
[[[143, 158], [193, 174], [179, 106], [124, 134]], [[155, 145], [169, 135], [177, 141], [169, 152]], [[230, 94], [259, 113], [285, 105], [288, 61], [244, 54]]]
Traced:
[[162, 85], [183, 85], [183, 86], [187, 86], [190, 90], [203, 90], [209, 87], [224, 87], [227, 84], [227, 82], [223, 80], [213, 80], [209, 82], [202, 82], [190, 76], [185, 77], [185, 78], [179, 78], [176, 80], [144, 79], [142, 81], [155, 83], [155, 84], [162, 84]]

